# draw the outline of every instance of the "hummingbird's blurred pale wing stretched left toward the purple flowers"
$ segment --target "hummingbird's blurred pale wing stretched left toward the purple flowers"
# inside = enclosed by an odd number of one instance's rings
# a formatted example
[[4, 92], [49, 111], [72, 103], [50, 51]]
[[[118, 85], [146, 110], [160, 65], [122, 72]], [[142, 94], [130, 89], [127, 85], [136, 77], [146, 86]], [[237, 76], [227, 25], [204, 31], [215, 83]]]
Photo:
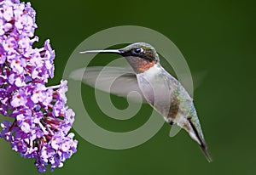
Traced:
[[129, 94], [135, 102], [146, 102], [131, 68], [93, 66], [73, 71], [70, 77], [107, 93], [125, 98]]

